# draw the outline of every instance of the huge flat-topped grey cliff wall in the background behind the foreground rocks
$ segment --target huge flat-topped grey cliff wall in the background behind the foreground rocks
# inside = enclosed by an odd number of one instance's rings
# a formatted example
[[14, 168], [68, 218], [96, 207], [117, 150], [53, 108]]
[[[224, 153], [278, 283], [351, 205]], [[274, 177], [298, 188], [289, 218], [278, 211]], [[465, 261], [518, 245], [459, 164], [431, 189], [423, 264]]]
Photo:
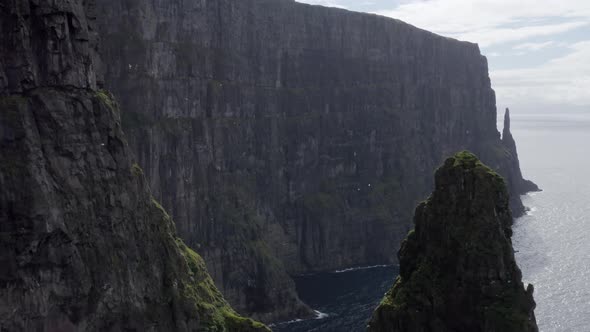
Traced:
[[394, 262], [443, 156], [523, 181], [475, 44], [287, 0], [99, 8], [130, 146], [244, 313], [309, 312], [287, 274]]

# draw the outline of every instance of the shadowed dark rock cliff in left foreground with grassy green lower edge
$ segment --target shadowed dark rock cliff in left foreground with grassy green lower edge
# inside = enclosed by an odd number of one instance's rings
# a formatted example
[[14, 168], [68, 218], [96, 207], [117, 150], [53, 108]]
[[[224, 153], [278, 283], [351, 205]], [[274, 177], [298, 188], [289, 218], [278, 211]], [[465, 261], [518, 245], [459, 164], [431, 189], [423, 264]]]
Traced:
[[129, 159], [94, 22], [89, 1], [0, 5], [0, 330], [268, 331]]

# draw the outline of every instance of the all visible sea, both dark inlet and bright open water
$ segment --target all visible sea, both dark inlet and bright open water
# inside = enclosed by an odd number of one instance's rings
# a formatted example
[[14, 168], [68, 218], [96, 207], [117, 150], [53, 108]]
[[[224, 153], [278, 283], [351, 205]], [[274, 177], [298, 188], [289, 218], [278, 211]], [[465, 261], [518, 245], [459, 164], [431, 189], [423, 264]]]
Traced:
[[[523, 281], [535, 286], [539, 330], [588, 332], [590, 112], [511, 116], [524, 177], [543, 189], [523, 196], [530, 211], [515, 221], [513, 237]], [[298, 277], [299, 294], [318, 317], [273, 330], [364, 331], [397, 273], [390, 266]]]

